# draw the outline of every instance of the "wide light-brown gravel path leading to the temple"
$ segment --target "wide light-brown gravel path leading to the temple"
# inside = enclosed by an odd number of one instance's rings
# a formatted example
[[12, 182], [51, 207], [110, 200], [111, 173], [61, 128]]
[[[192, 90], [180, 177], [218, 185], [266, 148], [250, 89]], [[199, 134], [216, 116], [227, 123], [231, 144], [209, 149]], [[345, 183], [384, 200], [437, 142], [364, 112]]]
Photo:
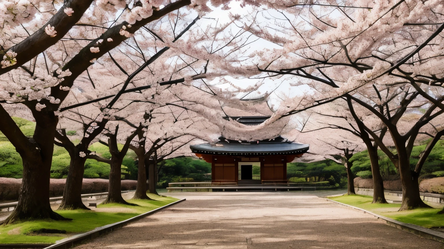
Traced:
[[315, 196], [326, 193], [168, 193], [187, 200], [76, 248], [444, 249]]

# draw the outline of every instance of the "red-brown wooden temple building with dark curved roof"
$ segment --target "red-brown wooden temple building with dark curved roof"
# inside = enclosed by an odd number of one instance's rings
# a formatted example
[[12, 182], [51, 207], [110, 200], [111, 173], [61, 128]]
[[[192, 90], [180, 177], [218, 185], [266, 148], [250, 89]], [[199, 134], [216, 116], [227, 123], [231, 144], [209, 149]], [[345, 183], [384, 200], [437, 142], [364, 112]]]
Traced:
[[[257, 125], [269, 116], [231, 117], [242, 124]], [[287, 182], [287, 163], [308, 151], [308, 144], [292, 143], [281, 136], [270, 140], [236, 141], [219, 138], [217, 143], [191, 145], [191, 152], [211, 163], [214, 185], [279, 184]]]

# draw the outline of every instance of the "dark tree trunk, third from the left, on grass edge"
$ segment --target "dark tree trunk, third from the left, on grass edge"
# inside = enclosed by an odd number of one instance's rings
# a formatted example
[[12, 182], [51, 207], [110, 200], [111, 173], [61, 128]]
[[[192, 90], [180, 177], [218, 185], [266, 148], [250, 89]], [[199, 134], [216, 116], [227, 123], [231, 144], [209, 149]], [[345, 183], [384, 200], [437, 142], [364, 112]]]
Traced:
[[109, 177], [109, 185], [108, 185], [108, 197], [103, 202], [106, 203], [123, 203], [129, 205], [122, 197], [121, 192], [121, 166], [122, 166], [122, 158], [118, 158], [117, 156], [111, 157], [111, 171]]

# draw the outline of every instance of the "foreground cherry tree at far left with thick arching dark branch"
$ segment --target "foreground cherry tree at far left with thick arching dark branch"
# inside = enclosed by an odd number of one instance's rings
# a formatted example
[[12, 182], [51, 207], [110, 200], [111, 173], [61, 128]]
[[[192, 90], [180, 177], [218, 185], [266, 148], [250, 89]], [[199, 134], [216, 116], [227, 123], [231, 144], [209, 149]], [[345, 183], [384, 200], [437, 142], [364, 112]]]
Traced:
[[[122, 15], [120, 15], [118, 19], [115, 19], [116, 8], [125, 8], [121, 5], [123, 1], [117, 1], [114, 4], [105, 1], [103, 1], [103, 3], [100, 2], [98, 5], [100, 8], [109, 11], [109, 13], [106, 12], [109, 16], [100, 16], [101, 18], [98, 20], [103, 23], [112, 20], [112, 27], [106, 28], [95, 24], [73, 26], [76, 28], [76, 31], [70, 33], [70, 37], [67, 38], [70, 42], [74, 42], [69, 47], [70, 50], [66, 49], [64, 39], [59, 39], [59, 42], [56, 42], [56, 44], [48, 48], [47, 51], [44, 51], [42, 56], [34, 57], [29, 66], [17, 67], [13, 70], [7, 70], [8, 72], [6, 73], [3, 72], [4, 74], [1, 75], [2, 83], [0, 88], [1, 102], [3, 104], [21, 103], [27, 106], [36, 120], [34, 136], [32, 139], [29, 139], [23, 134], [20, 134], [20, 132], [13, 132], [19, 129], [13, 124], [10, 115], [3, 106], [0, 108], [1, 117], [4, 117], [2, 118], [0, 130], [4, 132], [4, 134], [8, 134], [8, 139], [16, 147], [24, 162], [22, 195], [20, 195], [16, 210], [14, 210], [5, 223], [15, 222], [22, 218], [62, 218], [51, 210], [48, 191], [46, 191], [49, 187], [48, 177], [53, 151], [52, 140], [56, 136], [59, 116], [58, 109], [71, 92], [70, 89], [74, 81], [83, 74], [83, 72], [87, 71], [87, 68], [94, 64], [103, 54], [107, 54], [108, 51], [127, 40], [140, 28], [145, 29], [148, 23], [159, 20], [166, 14], [191, 4], [190, 1], [178, 0], [173, 3], [167, 3], [163, 8], [160, 8], [162, 2], [163, 1], [157, 1], [155, 3], [144, 2], [140, 3], [140, 6], [136, 3], [132, 6], [131, 10], [121, 12]], [[206, 2], [203, 2], [203, 4], [206, 4]], [[202, 7], [201, 3], [192, 3], [190, 6], [190, 8], [199, 7]], [[63, 11], [63, 13], [66, 16], [72, 16], [75, 11], [76, 9], [74, 8], [72, 10], [66, 8], [66, 12]], [[53, 13], [59, 15], [61, 12], [53, 11]], [[93, 11], [85, 13], [88, 13], [88, 15], [99, 15], [99, 13], [103, 12], [98, 9], [93, 9]], [[122, 22], [120, 18], [126, 18], [126, 21]], [[67, 25], [69, 26], [69, 24]], [[15, 34], [20, 26], [16, 25], [13, 27]], [[39, 25], [37, 24], [37, 26]], [[99, 26], [97, 30], [99, 31], [99, 35], [97, 35], [97, 31], [90, 32], [90, 28], [95, 26]], [[81, 29], [85, 29], [85, 31], [89, 29], [90, 31], [82, 32]], [[102, 32], [103, 30], [106, 31]], [[44, 36], [47, 35], [55, 38], [57, 37], [57, 32], [62, 34], [65, 31], [58, 31], [55, 26], [47, 25], [44, 28], [44, 32]], [[86, 37], [79, 39], [73, 38], [72, 36], [75, 34], [81, 34]], [[20, 34], [16, 35], [16, 37], [18, 36], [20, 36]], [[61, 35], [59, 37], [61, 37]], [[14, 41], [14, 39], [11, 40]], [[83, 42], [80, 41], [91, 42], [84, 46]], [[12, 50], [5, 49], [6, 47], [12, 47], [13, 44], [16, 43], [10, 42], [10, 40], [7, 42], [9, 42], [8, 45], [2, 45], [2, 50], [5, 53], [2, 60], [2, 67], [8, 68], [14, 65], [24, 65], [23, 61], [17, 60], [19, 54]], [[4, 44], [6, 44], [6, 42]], [[40, 53], [40, 51], [38, 51], [38, 53]], [[25, 55], [26, 53], [22, 54]], [[11, 84], [11, 82], [13, 83]]]

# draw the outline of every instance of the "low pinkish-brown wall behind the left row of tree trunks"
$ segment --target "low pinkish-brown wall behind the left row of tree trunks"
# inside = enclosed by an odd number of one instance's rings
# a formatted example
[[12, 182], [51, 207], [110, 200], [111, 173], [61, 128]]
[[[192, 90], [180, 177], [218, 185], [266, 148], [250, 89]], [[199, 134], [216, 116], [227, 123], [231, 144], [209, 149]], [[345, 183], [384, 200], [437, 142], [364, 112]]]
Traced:
[[[66, 179], [50, 179], [50, 197], [62, 196]], [[22, 179], [0, 177], [0, 200], [17, 200], [19, 198]], [[135, 190], [137, 181], [122, 180], [122, 191]], [[148, 186], [147, 186], [148, 188]], [[94, 194], [108, 191], [107, 179], [83, 179], [82, 194]]]

